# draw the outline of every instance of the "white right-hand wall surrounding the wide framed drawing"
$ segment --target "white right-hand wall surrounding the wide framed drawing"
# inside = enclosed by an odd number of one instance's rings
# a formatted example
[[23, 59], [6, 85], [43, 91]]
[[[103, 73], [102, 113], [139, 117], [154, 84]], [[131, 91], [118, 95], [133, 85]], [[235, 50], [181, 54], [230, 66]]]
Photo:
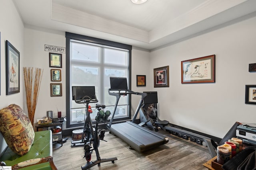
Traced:
[[[256, 84], [256, 17], [150, 53], [150, 68], [169, 65], [169, 88], [158, 91], [160, 119], [224, 137], [236, 122], [255, 123], [256, 105], [245, 104], [245, 85]], [[216, 55], [216, 82], [181, 84], [181, 61]], [[150, 72], [151, 88], [153, 73]]]

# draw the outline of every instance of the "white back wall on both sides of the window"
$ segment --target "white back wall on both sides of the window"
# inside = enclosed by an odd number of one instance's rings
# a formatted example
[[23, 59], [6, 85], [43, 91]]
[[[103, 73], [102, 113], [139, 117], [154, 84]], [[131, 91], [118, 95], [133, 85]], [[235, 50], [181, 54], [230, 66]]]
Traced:
[[[35, 122], [36, 119], [44, 118], [48, 110], [52, 110], [53, 117], [57, 117], [57, 107], [62, 111], [62, 117], [64, 117], [66, 115], [66, 54], [62, 54], [62, 68], [60, 68], [62, 74], [62, 81], [60, 82], [62, 83], [62, 96], [51, 97], [50, 83], [53, 82], [50, 80], [50, 69], [52, 67], [49, 67], [49, 52], [44, 51], [44, 45], [66, 47], [65, 33], [29, 26], [25, 28], [24, 37], [26, 44], [24, 47], [26, 54], [24, 66], [44, 69], [38, 95]], [[132, 90], [139, 92], [149, 90], [149, 85], [136, 87], [136, 75], [149, 77], [149, 68], [145, 67], [149, 65], [149, 51], [134, 47], [132, 49]], [[149, 80], [146, 79], [146, 81], [149, 84]], [[140, 96], [132, 96], [132, 113], [136, 110], [139, 100]], [[64, 129], [66, 129], [66, 125], [64, 125]]]

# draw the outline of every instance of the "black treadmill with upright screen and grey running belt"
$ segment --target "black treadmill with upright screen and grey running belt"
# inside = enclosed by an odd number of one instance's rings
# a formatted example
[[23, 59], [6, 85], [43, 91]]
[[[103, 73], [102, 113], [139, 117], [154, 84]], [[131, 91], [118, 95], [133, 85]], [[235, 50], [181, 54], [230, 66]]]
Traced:
[[[110, 119], [110, 123], [107, 125], [110, 133], [116, 135], [117, 137], [128, 143], [131, 149], [135, 149], [138, 152], [144, 152], [146, 150], [168, 143], [168, 137], [160, 135], [155, 131], [151, 131], [145, 127], [134, 123], [139, 113], [140, 107], [143, 103], [143, 100], [147, 96], [146, 93], [139, 93], [128, 90], [126, 78], [110, 77], [110, 89], [108, 89], [108, 94], [110, 94], [111, 96], [116, 96], [114, 111]], [[138, 104], [132, 121], [112, 124], [120, 97], [126, 96], [128, 94], [141, 96], [140, 102]]]

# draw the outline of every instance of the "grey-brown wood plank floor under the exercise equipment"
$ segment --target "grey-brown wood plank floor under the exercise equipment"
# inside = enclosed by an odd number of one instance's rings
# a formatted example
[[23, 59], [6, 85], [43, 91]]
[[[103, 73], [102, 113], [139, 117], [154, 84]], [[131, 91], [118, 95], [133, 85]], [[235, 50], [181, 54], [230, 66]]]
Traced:
[[[95, 165], [90, 170], [207, 170], [202, 164], [211, 159], [207, 147], [198, 145], [190, 140], [171, 135], [167, 131], [159, 130], [158, 133], [166, 135], [169, 142], [165, 145], [139, 153], [129, 149], [128, 144], [118, 137], [106, 132], [104, 141], [100, 141], [100, 157], [109, 158], [116, 156], [114, 162], [102, 162], [100, 166]], [[60, 147], [54, 144], [54, 164], [58, 170], [81, 170], [86, 164], [83, 146], [71, 147], [69, 138]], [[96, 160], [93, 152], [92, 160]]]

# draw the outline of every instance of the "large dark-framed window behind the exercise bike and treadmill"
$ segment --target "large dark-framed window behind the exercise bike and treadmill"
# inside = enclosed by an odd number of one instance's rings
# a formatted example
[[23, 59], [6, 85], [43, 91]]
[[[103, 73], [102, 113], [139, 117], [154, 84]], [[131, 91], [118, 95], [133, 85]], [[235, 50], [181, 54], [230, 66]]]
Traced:
[[[116, 98], [108, 94], [110, 76], [127, 77], [130, 87], [131, 46], [73, 33], [66, 33], [66, 113], [67, 127], [82, 126], [85, 106], [72, 100], [72, 86], [95, 86], [98, 104], [112, 113]], [[97, 114], [95, 104], [90, 104]], [[130, 119], [130, 96], [120, 98], [116, 120]]]

